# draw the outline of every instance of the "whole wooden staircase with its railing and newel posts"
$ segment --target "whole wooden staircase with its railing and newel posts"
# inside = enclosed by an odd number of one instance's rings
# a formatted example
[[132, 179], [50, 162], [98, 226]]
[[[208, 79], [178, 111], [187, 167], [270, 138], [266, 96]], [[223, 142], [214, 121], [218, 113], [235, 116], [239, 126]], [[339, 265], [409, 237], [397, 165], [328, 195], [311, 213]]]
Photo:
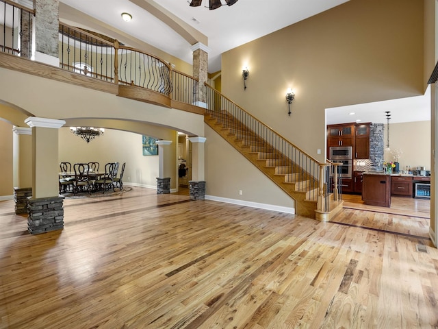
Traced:
[[337, 191], [326, 188], [330, 163], [318, 163], [208, 85], [207, 90], [205, 123], [292, 197], [297, 215], [329, 221], [342, 209]]

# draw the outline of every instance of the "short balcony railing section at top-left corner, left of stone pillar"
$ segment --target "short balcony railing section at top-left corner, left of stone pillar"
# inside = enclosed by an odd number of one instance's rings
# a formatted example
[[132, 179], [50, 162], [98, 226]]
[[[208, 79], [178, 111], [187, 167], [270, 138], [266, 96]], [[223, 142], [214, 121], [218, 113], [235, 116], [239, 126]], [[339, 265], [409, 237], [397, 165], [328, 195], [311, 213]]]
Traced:
[[0, 0], [0, 51], [31, 58], [35, 11], [10, 0]]

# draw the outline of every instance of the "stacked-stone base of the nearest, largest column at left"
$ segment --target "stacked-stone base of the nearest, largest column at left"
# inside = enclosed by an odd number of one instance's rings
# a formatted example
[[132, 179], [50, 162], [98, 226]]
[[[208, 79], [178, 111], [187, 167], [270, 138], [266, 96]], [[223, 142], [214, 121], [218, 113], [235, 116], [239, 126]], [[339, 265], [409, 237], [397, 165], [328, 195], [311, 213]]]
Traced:
[[29, 217], [27, 230], [30, 234], [41, 234], [64, 228], [64, 197], [42, 197], [27, 199]]

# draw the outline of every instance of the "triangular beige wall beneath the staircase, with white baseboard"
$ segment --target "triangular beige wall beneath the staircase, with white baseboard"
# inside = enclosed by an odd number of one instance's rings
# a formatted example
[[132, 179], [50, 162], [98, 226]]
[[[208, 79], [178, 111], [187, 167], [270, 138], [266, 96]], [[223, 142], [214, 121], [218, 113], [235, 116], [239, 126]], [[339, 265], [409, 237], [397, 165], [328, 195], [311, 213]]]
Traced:
[[205, 137], [206, 195], [229, 199], [231, 203], [255, 202], [295, 208], [294, 199], [207, 125]]

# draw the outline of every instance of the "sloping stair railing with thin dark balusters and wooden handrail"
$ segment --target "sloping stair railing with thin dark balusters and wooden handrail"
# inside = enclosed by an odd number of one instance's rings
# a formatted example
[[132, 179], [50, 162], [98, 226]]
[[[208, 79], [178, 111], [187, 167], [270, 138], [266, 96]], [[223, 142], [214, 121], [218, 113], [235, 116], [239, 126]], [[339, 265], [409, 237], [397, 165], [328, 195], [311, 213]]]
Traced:
[[296, 190], [307, 193], [307, 199], [317, 201], [318, 210], [329, 211], [332, 164], [318, 162], [217, 90], [205, 86], [207, 113], [235, 134], [237, 140], [266, 158], [268, 167], [276, 167], [276, 173], [285, 175], [286, 183], [294, 183]]

